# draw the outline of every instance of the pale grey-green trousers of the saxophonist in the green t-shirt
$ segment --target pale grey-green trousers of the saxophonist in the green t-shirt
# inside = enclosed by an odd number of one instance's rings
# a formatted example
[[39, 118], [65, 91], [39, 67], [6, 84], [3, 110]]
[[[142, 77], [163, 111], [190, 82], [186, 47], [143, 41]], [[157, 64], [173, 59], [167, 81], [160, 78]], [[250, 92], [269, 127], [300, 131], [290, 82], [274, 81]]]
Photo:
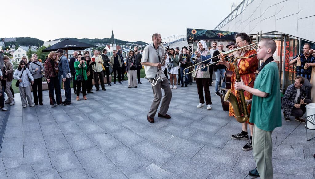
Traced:
[[254, 124], [253, 153], [260, 178], [273, 177], [272, 168], [272, 131], [261, 130]]

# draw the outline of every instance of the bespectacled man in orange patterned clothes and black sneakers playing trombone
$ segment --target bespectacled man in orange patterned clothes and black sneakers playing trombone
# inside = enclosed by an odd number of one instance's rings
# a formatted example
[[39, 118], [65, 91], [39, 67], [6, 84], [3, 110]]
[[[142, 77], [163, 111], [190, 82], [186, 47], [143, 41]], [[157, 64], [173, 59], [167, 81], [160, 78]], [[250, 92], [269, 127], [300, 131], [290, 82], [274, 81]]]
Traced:
[[[238, 45], [240, 49], [242, 49], [242, 47], [245, 47], [251, 44], [250, 37], [246, 33], [243, 33], [243, 32], [235, 35], [235, 41], [236, 41], [236, 45]], [[249, 57], [250, 55], [253, 55], [255, 53], [256, 53], [255, 49], [241, 50], [241, 51], [236, 50], [233, 53], [233, 55], [234, 57], [238, 57], [238, 56]], [[232, 77], [231, 77], [231, 82], [232, 82], [231, 92], [232, 94], [236, 96], [237, 100], [240, 101], [240, 98], [237, 95], [238, 93], [234, 88], [234, 83], [236, 81], [234, 66], [232, 65], [232, 63], [228, 63], [227, 61], [220, 61], [218, 65], [225, 65], [228, 70], [233, 72]], [[254, 87], [254, 83], [253, 82], [250, 83], [250, 82], [255, 80], [255, 71], [257, 70], [257, 67], [258, 67], [258, 59], [255, 56], [251, 58], [247, 58], [247, 59], [238, 59], [239, 75], [243, 79], [244, 84], [251, 88]], [[251, 93], [244, 91], [245, 100], [252, 99], [252, 96], [253, 95]], [[250, 114], [250, 109], [251, 109], [251, 105], [249, 104], [247, 106], [248, 115]], [[231, 103], [229, 107], [229, 116], [235, 116], [234, 109]], [[242, 123], [242, 132], [231, 136], [232, 139], [248, 140], [249, 137], [248, 137], [248, 132], [247, 132], [247, 123], [249, 124], [249, 129], [250, 129], [250, 140], [242, 148], [244, 151], [249, 151], [252, 149], [252, 136], [253, 136], [254, 124], [249, 123], [249, 118], [246, 123]]]

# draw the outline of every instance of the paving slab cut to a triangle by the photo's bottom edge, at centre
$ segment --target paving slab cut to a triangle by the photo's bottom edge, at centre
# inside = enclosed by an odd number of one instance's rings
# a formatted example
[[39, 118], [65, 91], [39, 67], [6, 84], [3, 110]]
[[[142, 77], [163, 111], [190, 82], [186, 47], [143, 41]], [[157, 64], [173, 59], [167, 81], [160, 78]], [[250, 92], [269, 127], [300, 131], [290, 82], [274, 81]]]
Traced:
[[169, 172], [163, 170], [159, 166], [155, 164], [151, 164], [149, 166], [144, 166], [141, 169], [137, 170], [135, 173], [132, 173], [128, 176], [129, 179], [175, 179], [174, 175], [170, 174]]

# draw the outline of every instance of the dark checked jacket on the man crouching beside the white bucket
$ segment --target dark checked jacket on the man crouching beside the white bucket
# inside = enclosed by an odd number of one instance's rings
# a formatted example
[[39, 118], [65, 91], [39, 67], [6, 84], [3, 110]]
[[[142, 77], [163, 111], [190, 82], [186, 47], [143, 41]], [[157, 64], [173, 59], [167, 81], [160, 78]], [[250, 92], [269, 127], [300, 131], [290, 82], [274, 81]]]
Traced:
[[[287, 90], [285, 90], [284, 96], [282, 98], [281, 107], [284, 109], [285, 118], [289, 118], [292, 113], [292, 109], [294, 107], [294, 100], [296, 96], [296, 88], [294, 84], [288, 86]], [[300, 88], [300, 96], [297, 99], [298, 103], [300, 103], [300, 99], [305, 97], [305, 87], [302, 85]]]

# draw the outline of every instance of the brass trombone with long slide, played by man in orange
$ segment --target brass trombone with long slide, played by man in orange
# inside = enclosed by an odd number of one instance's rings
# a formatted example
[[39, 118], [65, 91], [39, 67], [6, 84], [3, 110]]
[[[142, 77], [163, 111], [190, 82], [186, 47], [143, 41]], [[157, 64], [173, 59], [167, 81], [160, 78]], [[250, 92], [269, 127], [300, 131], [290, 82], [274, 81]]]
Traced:
[[[226, 59], [226, 56], [227, 56], [227, 55], [232, 54], [232, 53], [234, 53], [234, 52], [236, 52], [236, 51], [239, 51], [239, 50], [248, 51], [248, 50], [253, 50], [253, 49], [257, 49], [257, 48], [258, 48], [258, 42], [252, 43], [252, 44], [249, 44], [249, 45], [246, 45], [246, 46], [241, 47], [241, 48], [232, 49], [232, 50], [227, 51], [227, 52], [220, 52], [219, 55], [216, 55], [216, 56], [214, 56], [214, 57], [211, 57], [211, 58], [209, 58], [209, 59], [207, 59], [207, 60], [205, 60], [205, 61], [209, 61], [209, 60], [211, 60], [211, 59], [213, 59], [213, 58], [216, 58], [216, 57], [218, 57], [218, 56], [222, 56], [222, 60], [223, 60], [223, 59]], [[199, 53], [199, 52], [198, 52], [198, 53]], [[192, 58], [194, 58], [194, 57], [192, 57]], [[190, 73], [192, 73], [192, 72], [196, 72], [197, 70], [200, 70], [200, 69], [205, 68], [205, 67], [207, 67], [207, 66], [214, 65], [214, 64], [216, 64], [216, 63], [219, 63], [219, 62], [222, 61], [222, 60], [219, 60], [219, 61], [210, 63], [210, 64], [208, 64], [208, 65], [206, 65], [206, 66], [203, 66], [203, 67], [200, 67], [200, 68], [198, 68], [198, 69], [195, 69], [195, 70], [193, 70], [193, 71], [191, 71], [191, 72], [185, 73], [185, 70], [186, 70], [186, 69], [189, 69], [189, 68], [191, 68], [191, 67], [197, 66], [197, 65], [199, 65], [199, 64], [205, 62], [205, 61], [201, 61], [201, 62], [199, 62], [199, 63], [196, 63], [196, 64], [194, 64], [194, 65], [192, 65], [192, 66], [189, 66], [189, 67], [185, 68], [185, 69], [184, 69], [184, 75], [190, 74]]]

